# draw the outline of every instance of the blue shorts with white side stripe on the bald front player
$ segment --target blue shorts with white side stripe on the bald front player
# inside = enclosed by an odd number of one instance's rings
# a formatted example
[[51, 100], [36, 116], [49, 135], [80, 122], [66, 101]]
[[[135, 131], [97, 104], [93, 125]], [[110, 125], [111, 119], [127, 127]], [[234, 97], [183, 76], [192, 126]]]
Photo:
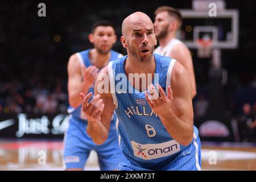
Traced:
[[201, 143], [199, 137], [194, 137], [195, 140], [185, 150], [174, 154], [170, 158], [170, 162], [166, 165], [156, 168], [139, 167], [129, 160], [119, 164], [120, 171], [200, 171], [201, 170]]

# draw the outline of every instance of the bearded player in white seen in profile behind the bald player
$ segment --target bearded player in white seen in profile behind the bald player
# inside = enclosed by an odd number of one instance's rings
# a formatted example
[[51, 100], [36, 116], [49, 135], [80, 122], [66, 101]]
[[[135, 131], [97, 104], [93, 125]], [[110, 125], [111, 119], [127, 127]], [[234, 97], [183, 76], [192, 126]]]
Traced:
[[191, 78], [193, 98], [196, 96], [196, 80], [192, 56], [187, 46], [176, 39], [176, 32], [180, 29], [181, 24], [182, 16], [179, 10], [170, 6], [161, 6], [155, 10], [155, 35], [159, 42], [155, 53], [172, 57], [187, 69]]

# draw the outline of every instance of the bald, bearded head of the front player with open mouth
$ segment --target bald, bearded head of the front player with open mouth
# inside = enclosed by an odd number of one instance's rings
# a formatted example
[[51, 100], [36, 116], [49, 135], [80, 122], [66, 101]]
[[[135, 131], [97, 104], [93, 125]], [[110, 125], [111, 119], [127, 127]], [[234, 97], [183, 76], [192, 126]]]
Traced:
[[153, 52], [156, 45], [154, 24], [148, 15], [135, 12], [122, 23], [121, 42], [127, 49], [128, 59], [148, 63], [154, 60]]

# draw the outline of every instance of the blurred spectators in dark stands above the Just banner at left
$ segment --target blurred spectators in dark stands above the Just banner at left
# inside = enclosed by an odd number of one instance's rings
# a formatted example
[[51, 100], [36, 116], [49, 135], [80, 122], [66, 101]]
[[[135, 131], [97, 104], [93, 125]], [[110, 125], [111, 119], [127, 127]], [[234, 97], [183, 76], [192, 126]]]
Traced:
[[67, 88], [61, 78], [0, 81], [0, 113], [66, 113]]

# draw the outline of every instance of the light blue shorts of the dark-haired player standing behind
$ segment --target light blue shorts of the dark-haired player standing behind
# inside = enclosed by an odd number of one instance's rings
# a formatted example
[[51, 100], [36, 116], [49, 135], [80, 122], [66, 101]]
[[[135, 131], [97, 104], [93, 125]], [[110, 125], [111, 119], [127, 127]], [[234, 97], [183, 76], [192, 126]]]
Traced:
[[104, 171], [118, 169], [119, 163], [125, 160], [118, 144], [117, 131], [113, 121], [110, 125], [109, 137], [101, 145], [95, 144], [86, 133], [86, 121], [70, 117], [68, 123], [69, 126], [64, 137], [63, 164], [65, 169], [84, 169], [91, 150], [97, 152], [100, 168]]

